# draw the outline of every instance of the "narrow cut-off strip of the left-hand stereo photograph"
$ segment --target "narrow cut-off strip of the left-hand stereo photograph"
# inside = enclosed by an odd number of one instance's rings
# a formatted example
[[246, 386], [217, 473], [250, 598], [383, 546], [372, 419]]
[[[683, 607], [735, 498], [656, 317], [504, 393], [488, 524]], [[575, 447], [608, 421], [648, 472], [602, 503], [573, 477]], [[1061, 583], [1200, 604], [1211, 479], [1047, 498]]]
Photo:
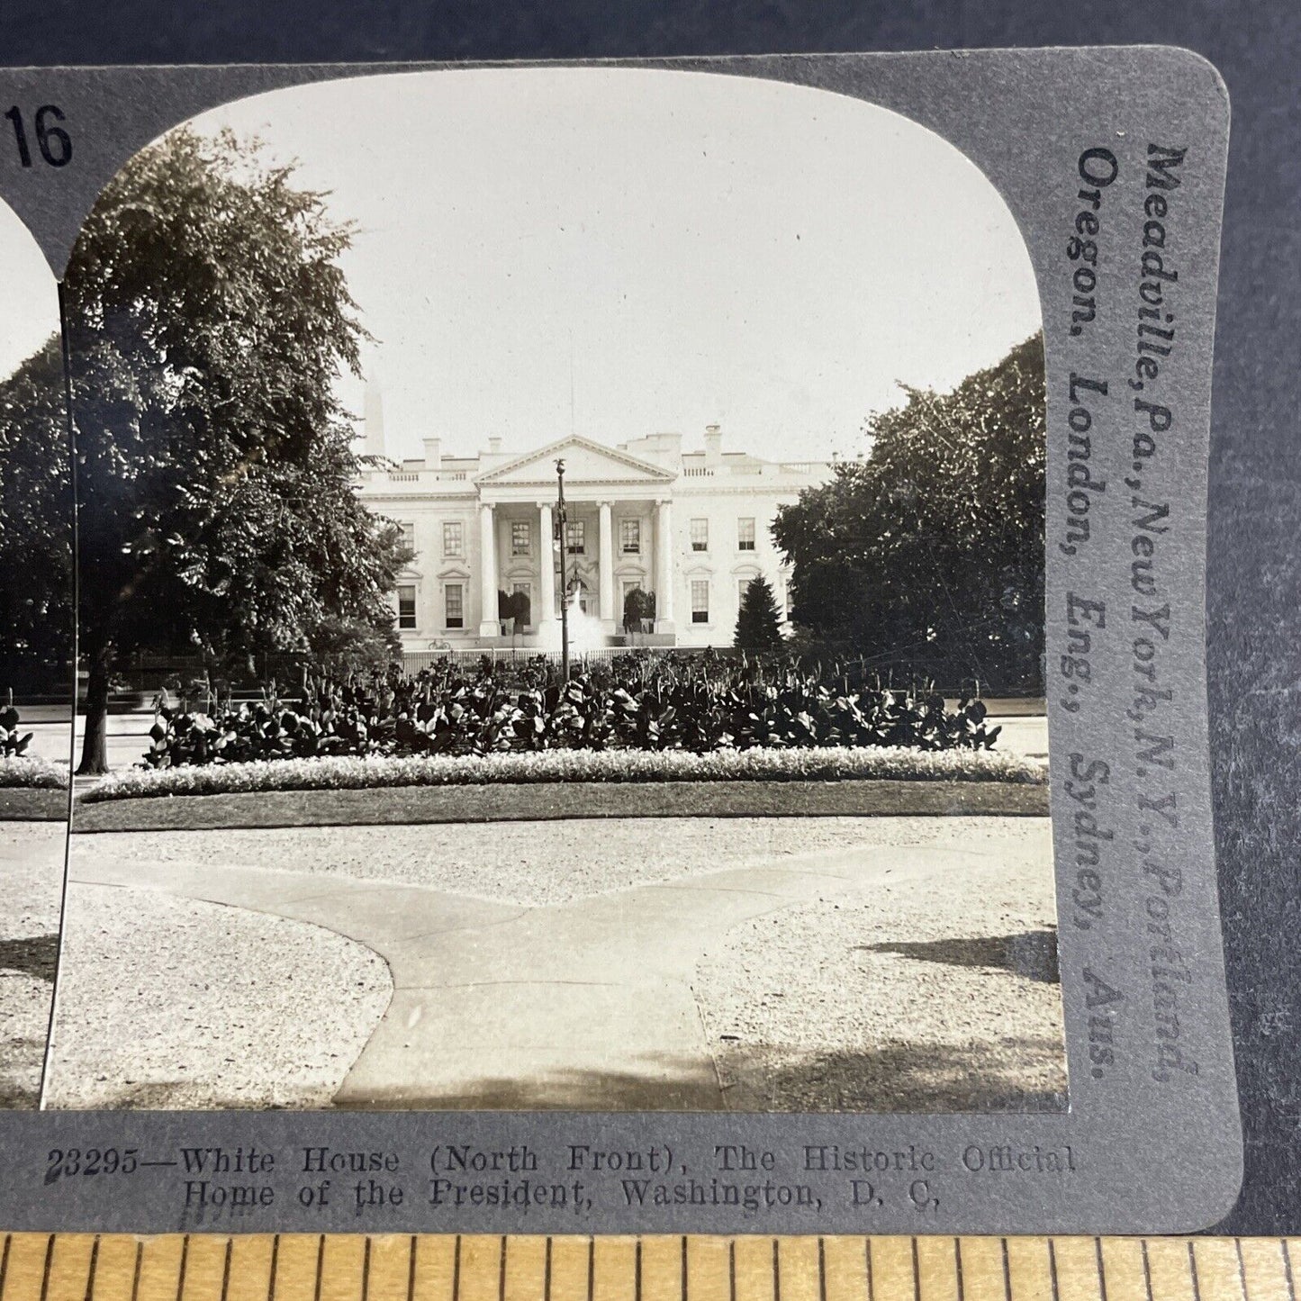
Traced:
[[68, 840], [73, 494], [55, 277], [0, 203], [0, 1108], [33, 1110]]

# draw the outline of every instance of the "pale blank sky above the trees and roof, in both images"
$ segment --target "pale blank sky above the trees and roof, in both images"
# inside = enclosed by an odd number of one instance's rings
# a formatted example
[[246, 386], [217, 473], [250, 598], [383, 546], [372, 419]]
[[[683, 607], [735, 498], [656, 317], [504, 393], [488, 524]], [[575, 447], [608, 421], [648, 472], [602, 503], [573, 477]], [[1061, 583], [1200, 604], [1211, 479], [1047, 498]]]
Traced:
[[[706, 424], [861, 449], [896, 381], [951, 388], [1039, 328], [1016, 225], [956, 150], [824, 91], [693, 73], [409, 73], [207, 113], [358, 222], [345, 269], [394, 455]], [[0, 373], [57, 325], [0, 215]], [[360, 412], [360, 388], [342, 386]]]

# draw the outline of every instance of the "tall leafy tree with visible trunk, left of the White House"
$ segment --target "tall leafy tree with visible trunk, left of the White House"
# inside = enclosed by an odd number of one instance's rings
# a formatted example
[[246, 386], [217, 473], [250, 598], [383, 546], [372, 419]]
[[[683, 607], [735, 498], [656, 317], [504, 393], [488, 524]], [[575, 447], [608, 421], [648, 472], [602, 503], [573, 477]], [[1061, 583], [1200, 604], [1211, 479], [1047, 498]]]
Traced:
[[138, 154], [82, 228], [65, 291], [77, 449], [79, 771], [105, 768], [113, 666], [310, 650], [392, 630], [399, 530], [358, 500], [336, 380], [364, 329], [353, 229], [256, 142], [190, 129]]

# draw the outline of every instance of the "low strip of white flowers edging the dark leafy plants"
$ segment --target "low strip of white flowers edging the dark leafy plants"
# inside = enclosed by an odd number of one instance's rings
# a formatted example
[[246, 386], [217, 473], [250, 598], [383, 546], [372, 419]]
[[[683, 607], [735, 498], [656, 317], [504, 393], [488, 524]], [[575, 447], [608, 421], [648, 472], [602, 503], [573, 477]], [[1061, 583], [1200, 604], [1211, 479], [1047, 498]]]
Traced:
[[1032, 760], [984, 749], [827, 745], [818, 749], [686, 751], [552, 749], [483, 756], [277, 758], [130, 769], [105, 778], [85, 803], [157, 795], [262, 791], [356, 791], [394, 786], [485, 786], [539, 782], [1019, 782], [1042, 785]]

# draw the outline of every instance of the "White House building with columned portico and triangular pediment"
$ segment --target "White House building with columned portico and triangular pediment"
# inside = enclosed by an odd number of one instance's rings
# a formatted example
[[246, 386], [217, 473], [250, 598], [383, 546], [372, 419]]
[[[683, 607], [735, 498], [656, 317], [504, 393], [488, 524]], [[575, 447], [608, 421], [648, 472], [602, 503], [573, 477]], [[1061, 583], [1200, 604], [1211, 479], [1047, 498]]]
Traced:
[[[382, 455], [377, 396], [368, 394], [366, 416], [366, 450]], [[570, 609], [587, 615], [575, 622], [588, 645], [627, 644], [634, 588], [654, 596], [653, 630], [636, 632], [637, 644], [730, 645], [740, 593], [758, 574], [785, 613], [788, 570], [769, 526], [779, 505], [827, 479], [827, 462], [725, 451], [718, 425], [699, 451], [683, 451], [682, 435], [656, 433], [615, 448], [571, 436], [519, 455], [489, 438], [485, 451], [464, 457], [431, 437], [422, 459], [367, 470], [359, 484], [415, 553], [394, 592], [409, 653], [558, 647], [558, 459]], [[500, 593], [522, 593], [524, 617], [502, 619]]]

